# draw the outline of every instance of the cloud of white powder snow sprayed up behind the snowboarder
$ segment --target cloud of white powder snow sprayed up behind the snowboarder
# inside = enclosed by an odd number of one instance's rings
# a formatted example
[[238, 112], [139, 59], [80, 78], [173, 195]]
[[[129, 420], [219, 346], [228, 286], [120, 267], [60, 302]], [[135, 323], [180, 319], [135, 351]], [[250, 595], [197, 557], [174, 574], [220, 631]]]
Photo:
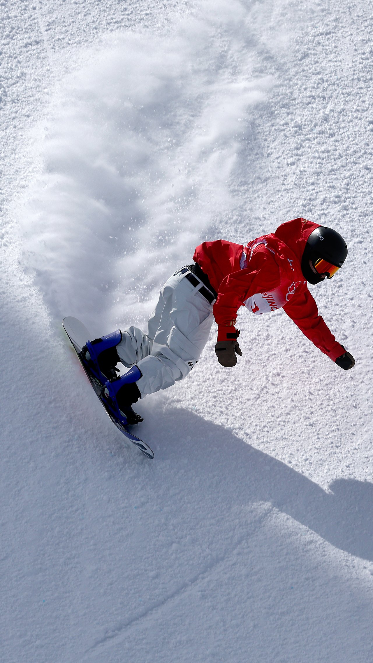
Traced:
[[25, 263], [52, 319], [75, 314], [94, 333], [142, 324], [231, 210], [239, 139], [270, 85], [253, 74], [252, 23], [240, 2], [206, 3], [164, 34], [111, 36], [62, 81], [22, 210]]

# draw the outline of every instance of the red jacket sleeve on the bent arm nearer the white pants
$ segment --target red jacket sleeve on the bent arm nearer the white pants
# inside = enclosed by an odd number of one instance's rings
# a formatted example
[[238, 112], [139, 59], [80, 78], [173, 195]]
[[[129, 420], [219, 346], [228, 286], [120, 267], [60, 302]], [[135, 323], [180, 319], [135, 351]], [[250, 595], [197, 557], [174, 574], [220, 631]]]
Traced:
[[274, 290], [280, 284], [280, 270], [271, 253], [258, 247], [246, 269], [228, 274], [219, 286], [217, 300], [213, 306], [218, 325], [235, 324], [237, 311], [244, 301], [257, 292]]

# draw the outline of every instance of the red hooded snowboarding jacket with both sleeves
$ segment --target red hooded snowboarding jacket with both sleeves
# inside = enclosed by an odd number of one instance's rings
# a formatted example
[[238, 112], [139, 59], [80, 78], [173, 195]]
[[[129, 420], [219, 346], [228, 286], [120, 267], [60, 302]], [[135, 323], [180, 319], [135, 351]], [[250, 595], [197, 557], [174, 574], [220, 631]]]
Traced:
[[218, 293], [213, 314], [219, 328], [229, 327], [232, 331], [240, 306], [259, 315], [283, 308], [305, 336], [333, 361], [345, 352], [319, 316], [301, 271], [305, 243], [319, 225], [293, 219], [245, 247], [219, 239], [203, 242], [195, 249], [193, 261], [201, 266]]

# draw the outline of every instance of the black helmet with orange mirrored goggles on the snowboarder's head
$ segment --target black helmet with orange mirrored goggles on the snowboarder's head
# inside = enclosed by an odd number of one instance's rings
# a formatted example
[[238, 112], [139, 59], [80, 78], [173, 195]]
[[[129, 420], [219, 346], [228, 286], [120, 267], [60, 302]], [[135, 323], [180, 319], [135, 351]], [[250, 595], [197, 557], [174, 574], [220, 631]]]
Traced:
[[343, 237], [335, 230], [320, 225], [307, 239], [301, 271], [309, 283], [319, 283], [323, 280], [323, 274], [331, 278], [342, 267], [346, 257], [347, 246]]

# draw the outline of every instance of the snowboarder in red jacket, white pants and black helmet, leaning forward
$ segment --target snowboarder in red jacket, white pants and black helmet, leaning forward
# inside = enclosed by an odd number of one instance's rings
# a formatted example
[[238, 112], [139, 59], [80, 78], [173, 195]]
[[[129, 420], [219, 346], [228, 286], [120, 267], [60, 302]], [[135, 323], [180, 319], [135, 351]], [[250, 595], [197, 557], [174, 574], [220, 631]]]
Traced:
[[[222, 366], [233, 367], [242, 355], [236, 329], [237, 310], [255, 314], [283, 308], [297, 327], [342, 369], [354, 358], [319, 316], [307, 282], [332, 278], [345, 262], [345, 240], [331, 228], [303, 218], [282, 223], [275, 233], [246, 246], [225, 241], [203, 242], [193, 265], [178, 269], [163, 286], [148, 332], [136, 327], [87, 341], [83, 357], [110, 379], [107, 398], [116, 398], [129, 423], [140, 417], [133, 403], [166, 389], [193, 369], [217, 322], [215, 353]], [[133, 367], [117, 377], [116, 365]]]

